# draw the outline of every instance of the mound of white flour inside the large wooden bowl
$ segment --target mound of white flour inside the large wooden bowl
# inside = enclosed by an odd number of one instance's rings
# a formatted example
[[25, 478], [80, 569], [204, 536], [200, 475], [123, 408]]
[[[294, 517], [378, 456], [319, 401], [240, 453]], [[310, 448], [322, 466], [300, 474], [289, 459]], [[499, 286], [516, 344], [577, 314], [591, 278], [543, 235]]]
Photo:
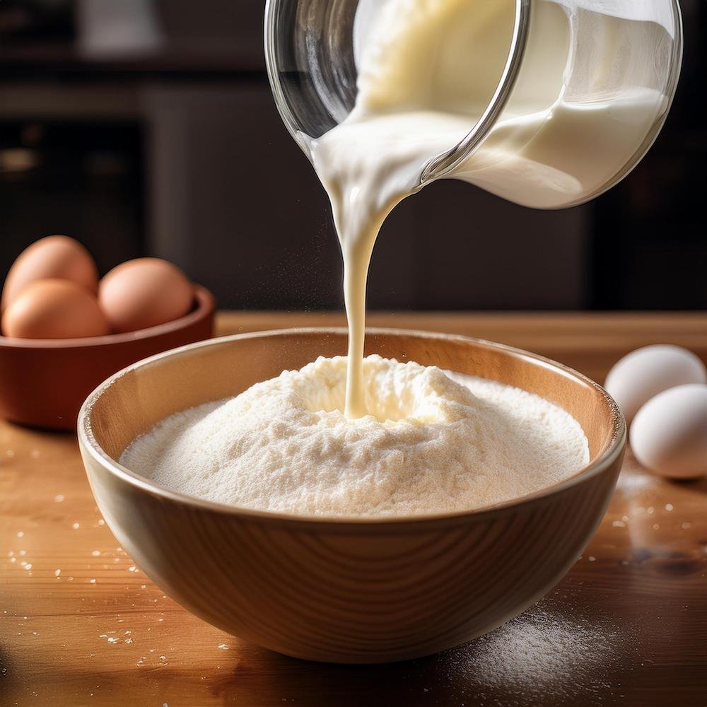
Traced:
[[588, 463], [578, 422], [537, 395], [380, 356], [364, 375], [361, 419], [341, 412], [346, 358], [319, 358], [165, 419], [120, 462], [211, 501], [327, 516], [479, 508]]

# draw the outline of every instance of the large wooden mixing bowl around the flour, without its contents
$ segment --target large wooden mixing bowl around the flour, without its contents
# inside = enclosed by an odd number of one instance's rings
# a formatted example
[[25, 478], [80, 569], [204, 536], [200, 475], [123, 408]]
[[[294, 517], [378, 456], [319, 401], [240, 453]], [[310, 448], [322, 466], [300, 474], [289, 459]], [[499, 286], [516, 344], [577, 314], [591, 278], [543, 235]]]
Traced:
[[368, 353], [481, 375], [542, 395], [589, 438], [582, 472], [520, 500], [387, 520], [247, 510], [162, 489], [116, 460], [176, 411], [346, 351], [339, 329], [240, 334], [114, 375], [88, 398], [78, 440], [118, 542], [209, 624], [297, 658], [372, 663], [469, 641], [524, 611], [599, 525], [624, 453], [624, 418], [596, 383], [546, 358], [444, 334], [372, 329]]

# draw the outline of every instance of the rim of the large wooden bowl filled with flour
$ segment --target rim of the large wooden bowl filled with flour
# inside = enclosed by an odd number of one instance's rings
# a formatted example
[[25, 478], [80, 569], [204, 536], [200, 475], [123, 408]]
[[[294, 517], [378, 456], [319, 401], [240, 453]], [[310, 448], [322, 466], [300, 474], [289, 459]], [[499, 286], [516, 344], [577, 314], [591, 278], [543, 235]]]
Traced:
[[[479, 518], [489, 518], [493, 515], [498, 515], [503, 511], [508, 509], [520, 508], [531, 503], [536, 503], [537, 501], [546, 500], [554, 496], [556, 493], [561, 493], [570, 489], [572, 486], [588, 481], [602, 472], [606, 472], [610, 467], [614, 465], [624, 454], [624, 448], [626, 446], [626, 421], [624, 415], [621, 413], [618, 404], [614, 399], [602, 388], [597, 382], [588, 378], [588, 376], [583, 373], [579, 373], [577, 370], [565, 366], [563, 363], [558, 363], [553, 361], [551, 358], [545, 356], [540, 356], [539, 354], [533, 354], [530, 351], [525, 351], [524, 349], [518, 349], [514, 346], [507, 346], [506, 344], [498, 344], [495, 341], [488, 341], [486, 339], [474, 339], [472, 337], [464, 337], [459, 334], [443, 334], [438, 332], [424, 332], [417, 329], [395, 329], [388, 327], [372, 327], [366, 328], [366, 336], [368, 335], [392, 335], [392, 336], [406, 336], [406, 337], [421, 337], [428, 339], [430, 337], [435, 339], [443, 339], [450, 341], [459, 341], [467, 344], [474, 344], [476, 346], [484, 346], [491, 349], [500, 349], [501, 351], [506, 351], [509, 354], [514, 354], [519, 356], [525, 361], [540, 364], [544, 368], [552, 368], [559, 370], [563, 375], [569, 376], [570, 378], [575, 378], [594, 388], [607, 402], [609, 411], [612, 416], [612, 436], [609, 440], [607, 448], [602, 452], [595, 460], [590, 461], [587, 466], [580, 469], [578, 472], [573, 474], [563, 481], [559, 481], [556, 484], [547, 486], [544, 489], [535, 491], [534, 493], [529, 493], [525, 496], [520, 496], [520, 498], [512, 498], [509, 501], [503, 501], [502, 503], [489, 504], [488, 506], [481, 506], [479, 508], [474, 508], [472, 510], [455, 510], [449, 513], [415, 513], [411, 515], [394, 515], [390, 517], [361, 517], [361, 516], [323, 516], [323, 515], [307, 515], [301, 513], [284, 513], [281, 511], [272, 510], [260, 510], [257, 508], [245, 508], [243, 506], [233, 506], [228, 503], [219, 503], [218, 501], [208, 501], [205, 498], [199, 498], [199, 496], [189, 496], [186, 493], [179, 493], [178, 491], [172, 491], [164, 486], [158, 486], [154, 484], [149, 479], [132, 472], [127, 467], [113, 459], [110, 455], [103, 450], [98, 441], [93, 436], [93, 431], [90, 423], [91, 411], [95, 402], [103, 395], [103, 393], [110, 388], [119, 378], [126, 375], [130, 371], [140, 368], [141, 366], [146, 366], [150, 363], [159, 361], [162, 358], [169, 358], [172, 356], [180, 356], [187, 351], [192, 351], [194, 349], [200, 349], [203, 346], [216, 346], [221, 344], [227, 344], [229, 341], [238, 341], [241, 339], [257, 339], [257, 338], [267, 338], [267, 337], [281, 337], [288, 334], [347, 334], [348, 329], [345, 327], [293, 327], [290, 329], [269, 329], [267, 331], [260, 332], [244, 332], [242, 334], [230, 334], [226, 337], [217, 337], [214, 339], [206, 339], [205, 341], [198, 341], [195, 344], [187, 344], [186, 346], [180, 346], [177, 349], [171, 349], [170, 351], [163, 351], [161, 354], [156, 354], [155, 356], [150, 356], [149, 358], [144, 358], [141, 361], [136, 361], [131, 366], [123, 368], [122, 370], [114, 373], [110, 378], [103, 381], [98, 387], [93, 390], [93, 392], [86, 398], [83, 402], [81, 410], [78, 413], [78, 423], [76, 430], [78, 433], [78, 443], [79, 447], [84, 453], [88, 453], [95, 462], [98, 462], [101, 467], [107, 469], [110, 474], [117, 477], [121, 481], [127, 482], [130, 486], [133, 486], [140, 491], [145, 491], [151, 496], [156, 496], [157, 498], [173, 501], [175, 503], [182, 503], [187, 506], [192, 506], [199, 508], [201, 510], [208, 510], [215, 513], [221, 513], [225, 515], [240, 516], [244, 518], [250, 518], [252, 520], [271, 520], [286, 522], [288, 524], [294, 525], [329, 525], [331, 527], [380, 527], [380, 526], [392, 526], [392, 525], [428, 525], [434, 522], [440, 521], [458, 521], [467, 518], [471, 520]], [[88, 473], [88, 465], [86, 465], [86, 471]]]

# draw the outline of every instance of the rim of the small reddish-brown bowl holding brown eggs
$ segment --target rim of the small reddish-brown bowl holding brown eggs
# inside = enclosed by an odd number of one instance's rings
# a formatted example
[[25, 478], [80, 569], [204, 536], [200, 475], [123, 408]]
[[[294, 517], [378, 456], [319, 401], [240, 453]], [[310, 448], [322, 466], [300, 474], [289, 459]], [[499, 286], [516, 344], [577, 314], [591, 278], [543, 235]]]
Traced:
[[17, 339], [0, 335], [0, 349], [81, 349], [90, 346], [112, 346], [130, 341], [145, 341], [153, 337], [163, 336], [163, 334], [172, 334], [199, 322], [216, 310], [216, 298], [209, 290], [195, 283], [192, 284], [192, 287], [194, 289], [194, 308], [183, 317], [171, 322], [147, 327], [146, 329], [136, 329], [134, 332], [105, 334], [102, 337], [83, 337], [80, 339]]

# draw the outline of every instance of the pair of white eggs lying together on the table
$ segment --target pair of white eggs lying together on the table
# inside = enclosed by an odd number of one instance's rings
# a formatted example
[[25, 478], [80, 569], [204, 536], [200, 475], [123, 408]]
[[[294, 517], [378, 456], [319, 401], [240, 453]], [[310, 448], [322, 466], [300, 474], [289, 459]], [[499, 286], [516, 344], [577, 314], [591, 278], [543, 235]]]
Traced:
[[631, 450], [668, 479], [707, 476], [707, 369], [692, 351], [655, 344], [624, 356], [607, 391], [626, 416]]

